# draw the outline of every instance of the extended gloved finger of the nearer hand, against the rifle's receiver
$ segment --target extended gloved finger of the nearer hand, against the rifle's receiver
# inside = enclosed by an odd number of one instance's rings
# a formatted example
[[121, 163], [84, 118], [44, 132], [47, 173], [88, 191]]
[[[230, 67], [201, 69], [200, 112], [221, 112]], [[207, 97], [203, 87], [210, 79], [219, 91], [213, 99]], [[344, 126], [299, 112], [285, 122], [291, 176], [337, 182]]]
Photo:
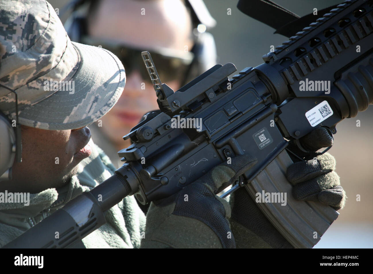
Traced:
[[235, 182], [239, 176], [256, 163], [257, 158], [250, 154], [238, 155], [231, 159], [231, 164], [224, 162], [214, 167], [194, 183], [207, 184], [213, 190], [213, 193], [216, 194]]

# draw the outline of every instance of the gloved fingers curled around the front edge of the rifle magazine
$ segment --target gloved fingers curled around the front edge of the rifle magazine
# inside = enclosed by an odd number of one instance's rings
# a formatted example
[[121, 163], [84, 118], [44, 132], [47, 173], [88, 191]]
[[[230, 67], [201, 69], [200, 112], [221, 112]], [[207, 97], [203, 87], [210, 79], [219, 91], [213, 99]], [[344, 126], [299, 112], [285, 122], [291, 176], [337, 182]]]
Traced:
[[[301, 145], [310, 151], [333, 145], [333, 138], [324, 127], [319, 127], [301, 138]], [[293, 187], [293, 196], [299, 201], [320, 201], [340, 210], [345, 205], [346, 193], [335, 173], [335, 158], [325, 152], [312, 160], [292, 164], [286, 177]]]

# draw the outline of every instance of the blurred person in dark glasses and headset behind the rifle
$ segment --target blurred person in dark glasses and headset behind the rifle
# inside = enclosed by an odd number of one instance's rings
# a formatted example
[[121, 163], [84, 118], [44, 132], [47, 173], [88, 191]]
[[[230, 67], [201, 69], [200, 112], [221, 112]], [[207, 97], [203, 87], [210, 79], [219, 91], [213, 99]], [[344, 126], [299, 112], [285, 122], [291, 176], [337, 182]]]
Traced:
[[[216, 64], [212, 35], [216, 22], [202, 0], [83, 0], [70, 4], [65, 23], [72, 41], [112, 51], [126, 71], [126, 86], [118, 103], [94, 125], [95, 143], [116, 168], [117, 151], [128, 147], [122, 136], [145, 113], [159, 110], [157, 97], [141, 59], [149, 51], [160, 80], [174, 91]], [[69, 8], [69, 6], [68, 6]]]

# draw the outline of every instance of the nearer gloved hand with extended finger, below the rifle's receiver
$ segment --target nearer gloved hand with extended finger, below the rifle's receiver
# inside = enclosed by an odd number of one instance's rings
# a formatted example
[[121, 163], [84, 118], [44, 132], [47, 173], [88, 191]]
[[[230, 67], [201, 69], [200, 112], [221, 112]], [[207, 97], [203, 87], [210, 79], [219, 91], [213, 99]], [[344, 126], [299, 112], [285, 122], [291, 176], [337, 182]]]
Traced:
[[249, 155], [214, 167], [175, 195], [152, 202], [141, 248], [235, 248], [231, 208], [216, 196], [256, 163]]

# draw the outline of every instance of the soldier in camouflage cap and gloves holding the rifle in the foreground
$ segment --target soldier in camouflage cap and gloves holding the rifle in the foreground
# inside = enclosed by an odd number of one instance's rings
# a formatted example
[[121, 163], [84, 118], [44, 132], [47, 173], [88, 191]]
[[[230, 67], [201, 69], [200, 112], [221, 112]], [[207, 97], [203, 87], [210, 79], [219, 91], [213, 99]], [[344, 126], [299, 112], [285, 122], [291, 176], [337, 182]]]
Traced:
[[[22, 163], [13, 162], [14, 154], [0, 163], [1, 174], [5, 174], [1, 179], [6, 179], [0, 182], [0, 191], [31, 193], [29, 205], [0, 203], [3, 246], [111, 176], [113, 165], [90, 139], [87, 125], [116, 103], [124, 88], [125, 73], [119, 59], [109, 51], [71, 42], [46, 1], [1, 1], [0, 8], [4, 28], [0, 34], [0, 110], [4, 113], [1, 122], [7, 127], [1, 138], [12, 143], [13, 135], [20, 137], [11, 126], [13, 120], [21, 124], [17, 129], [22, 129]], [[320, 136], [320, 132], [313, 134]], [[304, 139], [304, 144], [317, 149], [332, 142], [325, 134], [317, 140], [321, 142]], [[6, 142], [1, 140], [0, 144]], [[1, 151], [13, 151], [12, 146], [1, 147]], [[17, 145], [19, 151], [21, 146]], [[249, 154], [238, 156], [231, 165], [209, 171], [183, 193], [154, 202], [147, 213], [146, 227], [144, 214], [128, 196], [107, 211], [105, 225], [75, 247], [291, 247], [273, 227], [268, 227], [264, 216], [262, 221], [262, 217], [245, 211], [249, 208], [245, 197], [235, 195], [229, 205], [215, 195], [255, 163], [255, 157]], [[290, 169], [289, 177], [298, 183], [307, 180], [299, 188], [300, 198], [319, 197], [341, 208], [345, 195], [333, 171], [333, 158], [323, 155], [312, 163]], [[9, 164], [12, 170], [7, 173]], [[78, 169], [79, 179], [75, 176]], [[319, 195], [322, 192], [326, 195]], [[192, 201], [185, 203], [184, 193], [193, 197]], [[232, 206], [233, 213], [241, 206], [243, 210], [235, 215], [237, 222], [231, 226]], [[254, 228], [253, 216], [260, 219]], [[228, 232], [232, 232], [231, 237], [226, 236]]]

